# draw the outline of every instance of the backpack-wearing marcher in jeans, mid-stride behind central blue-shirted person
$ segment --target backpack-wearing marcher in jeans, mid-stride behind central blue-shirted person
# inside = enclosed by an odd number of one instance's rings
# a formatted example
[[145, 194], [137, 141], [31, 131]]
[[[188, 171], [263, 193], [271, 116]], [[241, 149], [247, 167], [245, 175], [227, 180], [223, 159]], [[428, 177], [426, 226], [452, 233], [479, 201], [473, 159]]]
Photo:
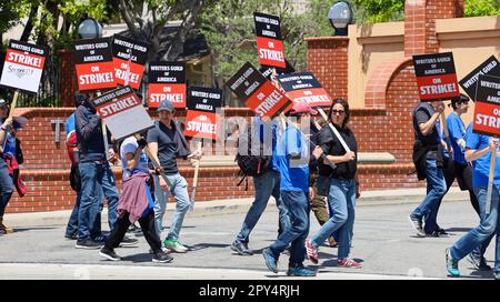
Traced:
[[[279, 211], [279, 228], [278, 235], [280, 235], [283, 230], [290, 226], [290, 220], [288, 218], [288, 211], [283, 205], [280, 195], [280, 172], [276, 158], [277, 141], [279, 139], [280, 120], [278, 118], [273, 119], [271, 124], [266, 123], [259, 117], [254, 118], [254, 123], [252, 129], [247, 131], [253, 131], [253, 135], [258, 135], [260, 143], [269, 141], [267, 135], [272, 134], [272, 155], [269, 161], [268, 167], [264, 168], [262, 174], [253, 177], [253, 187], [256, 188], [256, 198], [252, 205], [248, 210], [244, 217], [241, 230], [238, 233], [236, 240], [231, 244], [231, 250], [237, 252], [239, 255], [252, 255], [253, 252], [248, 248], [248, 242], [250, 240], [250, 233], [262, 215], [268, 201], [271, 195], [276, 200], [276, 207]], [[250, 137], [249, 137], [250, 138]], [[243, 141], [242, 141], [243, 142]], [[248, 144], [248, 142], [244, 142]], [[266, 149], [266, 147], [264, 147]], [[252, 154], [249, 154], [252, 155]]]

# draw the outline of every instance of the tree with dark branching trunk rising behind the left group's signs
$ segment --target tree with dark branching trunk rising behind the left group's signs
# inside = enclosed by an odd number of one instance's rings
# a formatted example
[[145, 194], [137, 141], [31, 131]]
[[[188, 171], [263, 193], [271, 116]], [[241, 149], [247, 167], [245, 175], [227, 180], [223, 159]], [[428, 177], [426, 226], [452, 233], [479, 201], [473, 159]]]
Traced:
[[[176, 60], [182, 53], [186, 37], [198, 21], [207, 0], [119, 0], [120, 13], [136, 40], [150, 44], [150, 60]], [[173, 39], [161, 41], [164, 26], [172, 20], [181, 24]], [[164, 54], [158, 58], [160, 50]]]

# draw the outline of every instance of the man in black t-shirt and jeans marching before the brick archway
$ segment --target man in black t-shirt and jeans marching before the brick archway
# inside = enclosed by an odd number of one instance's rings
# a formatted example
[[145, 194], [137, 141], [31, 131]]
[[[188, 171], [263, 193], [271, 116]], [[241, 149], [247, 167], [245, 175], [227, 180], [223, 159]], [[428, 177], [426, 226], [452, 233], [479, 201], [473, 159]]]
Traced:
[[[439, 115], [444, 111], [442, 102], [434, 109], [429, 102], [419, 102], [413, 109], [413, 163], [419, 180], [427, 178], [427, 195], [421, 204], [409, 215], [411, 226], [418, 236], [432, 234], [440, 236], [438, 223], [438, 202], [444, 195], [447, 183], [442, 171], [443, 147], [436, 127]], [[423, 219], [426, 224], [423, 225]]]

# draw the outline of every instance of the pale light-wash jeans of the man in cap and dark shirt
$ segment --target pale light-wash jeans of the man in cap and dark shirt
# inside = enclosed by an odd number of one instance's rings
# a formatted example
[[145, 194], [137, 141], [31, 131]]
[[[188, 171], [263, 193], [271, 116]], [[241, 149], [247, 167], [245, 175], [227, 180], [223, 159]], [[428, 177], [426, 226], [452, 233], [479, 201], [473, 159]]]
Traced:
[[167, 211], [167, 201], [172, 194], [176, 199], [176, 210], [173, 211], [172, 222], [170, 223], [169, 234], [167, 239], [179, 240], [182, 222], [186, 213], [189, 210], [190, 201], [188, 194], [188, 182], [179, 173], [167, 175], [167, 179], [172, 184], [170, 191], [163, 191], [160, 188], [160, 178], [154, 175], [154, 220], [157, 223], [158, 236], [161, 238], [161, 230], [163, 230], [163, 215]]

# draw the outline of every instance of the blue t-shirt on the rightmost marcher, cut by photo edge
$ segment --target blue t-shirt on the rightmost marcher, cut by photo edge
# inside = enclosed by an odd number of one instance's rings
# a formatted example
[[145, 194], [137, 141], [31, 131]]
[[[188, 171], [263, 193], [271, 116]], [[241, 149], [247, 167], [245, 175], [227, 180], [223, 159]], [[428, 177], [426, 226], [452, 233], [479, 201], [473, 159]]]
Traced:
[[[490, 144], [490, 137], [472, 132], [472, 123], [467, 128], [466, 148], [473, 150], [484, 149]], [[498, 157], [498, 151], [497, 151]], [[484, 187], [488, 185], [488, 178], [490, 174], [491, 152], [472, 161], [472, 185]], [[500, 184], [500, 160], [497, 160], [494, 167], [493, 184]]]

